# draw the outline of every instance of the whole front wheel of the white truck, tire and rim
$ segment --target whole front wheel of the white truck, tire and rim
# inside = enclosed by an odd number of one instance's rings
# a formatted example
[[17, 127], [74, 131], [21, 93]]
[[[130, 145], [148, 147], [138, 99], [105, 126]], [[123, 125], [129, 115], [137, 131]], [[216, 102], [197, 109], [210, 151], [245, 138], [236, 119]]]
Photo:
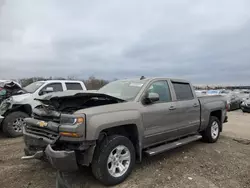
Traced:
[[29, 117], [24, 112], [12, 112], [3, 120], [3, 132], [8, 137], [18, 137], [23, 135], [24, 118]]

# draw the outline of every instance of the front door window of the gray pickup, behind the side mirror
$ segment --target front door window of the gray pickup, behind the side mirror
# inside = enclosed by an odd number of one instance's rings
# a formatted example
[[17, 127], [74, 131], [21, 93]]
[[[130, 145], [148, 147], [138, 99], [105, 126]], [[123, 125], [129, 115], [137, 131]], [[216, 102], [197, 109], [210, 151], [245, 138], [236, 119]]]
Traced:
[[157, 93], [160, 97], [158, 102], [172, 101], [168, 83], [166, 81], [156, 81], [148, 89], [148, 93]]

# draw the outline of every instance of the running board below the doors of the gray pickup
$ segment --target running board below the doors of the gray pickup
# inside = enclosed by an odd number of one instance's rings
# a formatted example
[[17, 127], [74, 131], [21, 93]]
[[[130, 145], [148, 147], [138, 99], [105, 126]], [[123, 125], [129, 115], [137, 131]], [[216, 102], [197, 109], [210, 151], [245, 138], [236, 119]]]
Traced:
[[186, 138], [174, 141], [174, 142], [169, 142], [167, 144], [163, 144], [154, 148], [150, 148], [144, 152], [149, 156], [153, 156], [153, 155], [157, 155], [159, 153], [163, 153], [165, 151], [180, 147], [182, 145], [188, 144], [190, 142], [200, 140], [201, 138], [202, 138], [201, 135], [189, 136], [189, 137], [186, 137]]

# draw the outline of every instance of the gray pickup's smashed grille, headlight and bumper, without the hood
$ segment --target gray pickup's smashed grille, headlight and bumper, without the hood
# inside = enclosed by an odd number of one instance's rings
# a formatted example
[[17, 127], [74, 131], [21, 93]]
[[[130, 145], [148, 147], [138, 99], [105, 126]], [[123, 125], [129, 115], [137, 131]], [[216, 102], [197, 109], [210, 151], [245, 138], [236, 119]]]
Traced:
[[46, 159], [60, 171], [75, 171], [78, 165], [88, 166], [95, 141], [85, 141], [85, 116], [61, 114], [35, 109], [33, 118], [26, 118], [23, 129], [23, 159]]

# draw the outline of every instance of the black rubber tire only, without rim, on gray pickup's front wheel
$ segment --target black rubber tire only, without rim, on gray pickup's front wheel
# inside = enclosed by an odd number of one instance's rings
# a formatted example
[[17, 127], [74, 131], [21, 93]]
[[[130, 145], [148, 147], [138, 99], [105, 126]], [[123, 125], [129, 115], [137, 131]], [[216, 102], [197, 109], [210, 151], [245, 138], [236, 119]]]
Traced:
[[[108, 158], [111, 152], [117, 146], [125, 146], [130, 152], [130, 164], [127, 171], [120, 177], [112, 176], [108, 171]], [[107, 186], [117, 185], [123, 182], [131, 173], [135, 164], [135, 149], [132, 142], [125, 136], [113, 135], [104, 139], [99, 146], [97, 146], [93, 161], [92, 173], [97, 180]]]

